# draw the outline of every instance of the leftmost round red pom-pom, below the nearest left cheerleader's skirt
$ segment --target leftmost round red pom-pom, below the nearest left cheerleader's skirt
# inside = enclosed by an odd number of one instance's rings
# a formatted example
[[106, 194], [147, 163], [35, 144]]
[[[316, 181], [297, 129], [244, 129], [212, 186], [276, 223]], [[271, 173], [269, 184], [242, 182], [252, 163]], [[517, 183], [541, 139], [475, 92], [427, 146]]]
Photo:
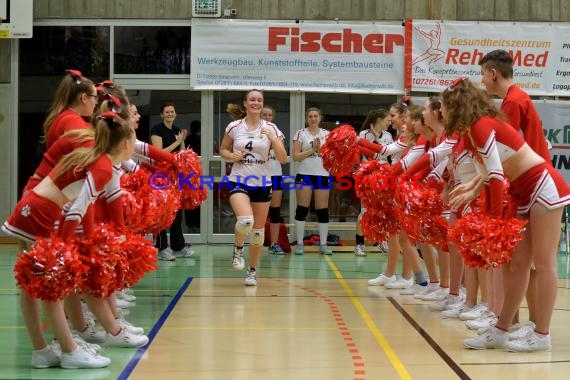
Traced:
[[52, 236], [39, 238], [18, 255], [14, 275], [31, 297], [54, 302], [73, 294], [86, 270], [77, 247]]

